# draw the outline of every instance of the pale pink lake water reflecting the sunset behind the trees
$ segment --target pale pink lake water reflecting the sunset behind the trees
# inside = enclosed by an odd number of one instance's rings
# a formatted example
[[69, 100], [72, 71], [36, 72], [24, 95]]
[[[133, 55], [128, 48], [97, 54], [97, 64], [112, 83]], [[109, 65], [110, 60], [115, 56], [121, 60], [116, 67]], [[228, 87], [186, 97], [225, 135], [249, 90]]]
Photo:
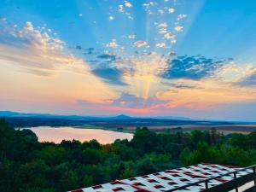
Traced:
[[116, 139], [131, 140], [133, 135], [131, 133], [124, 133], [118, 131], [107, 131], [101, 129], [80, 129], [74, 127], [50, 127], [38, 126], [26, 128], [32, 130], [38, 136], [39, 142], [54, 142], [61, 143], [65, 140], [79, 140], [80, 142], [90, 141], [96, 139], [99, 143], [113, 143]]

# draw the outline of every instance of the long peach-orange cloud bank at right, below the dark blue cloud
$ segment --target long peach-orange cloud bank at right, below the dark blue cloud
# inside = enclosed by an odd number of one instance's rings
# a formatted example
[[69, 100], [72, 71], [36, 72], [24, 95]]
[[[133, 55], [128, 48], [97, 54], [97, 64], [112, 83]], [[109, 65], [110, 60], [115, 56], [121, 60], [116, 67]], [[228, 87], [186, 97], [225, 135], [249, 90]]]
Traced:
[[[183, 82], [185, 84], [185, 82]], [[159, 91], [156, 96], [166, 100], [165, 108], [193, 108], [205, 110], [218, 105], [255, 101], [256, 91], [248, 88], [236, 89], [233, 84], [223, 84], [212, 79], [197, 82], [196, 87], [173, 84], [170, 90]], [[180, 85], [182, 87], [180, 87]], [[187, 87], [186, 87], [187, 86]], [[248, 94], [250, 92], [250, 94]]]

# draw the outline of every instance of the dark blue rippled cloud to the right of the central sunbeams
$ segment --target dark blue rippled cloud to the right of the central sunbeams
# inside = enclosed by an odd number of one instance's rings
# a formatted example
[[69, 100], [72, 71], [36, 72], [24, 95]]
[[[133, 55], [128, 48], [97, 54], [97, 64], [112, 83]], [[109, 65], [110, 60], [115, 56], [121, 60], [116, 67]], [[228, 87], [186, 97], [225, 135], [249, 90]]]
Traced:
[[230, 59], [209, 59], [201, 55], [178, 56], [162, 74], [165, 79], [203, 79], [213, 75]]

